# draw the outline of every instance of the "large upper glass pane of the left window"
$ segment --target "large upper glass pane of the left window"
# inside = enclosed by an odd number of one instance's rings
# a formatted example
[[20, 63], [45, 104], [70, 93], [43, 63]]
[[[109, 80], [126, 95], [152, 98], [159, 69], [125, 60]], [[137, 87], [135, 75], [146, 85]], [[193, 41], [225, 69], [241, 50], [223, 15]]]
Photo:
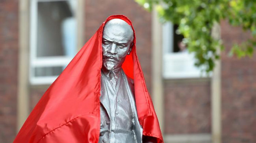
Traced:
[[38, 2], [37, 57], [75, 56], [75, 2]]

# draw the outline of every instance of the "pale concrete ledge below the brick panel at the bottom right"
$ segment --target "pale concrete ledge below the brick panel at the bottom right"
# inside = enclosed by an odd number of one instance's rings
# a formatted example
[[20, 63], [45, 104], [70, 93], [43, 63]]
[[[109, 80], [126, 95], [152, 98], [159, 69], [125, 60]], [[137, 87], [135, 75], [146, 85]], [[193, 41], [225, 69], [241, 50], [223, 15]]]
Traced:
[[165, 135], [165, 143], [211, 143], [211, 134]]

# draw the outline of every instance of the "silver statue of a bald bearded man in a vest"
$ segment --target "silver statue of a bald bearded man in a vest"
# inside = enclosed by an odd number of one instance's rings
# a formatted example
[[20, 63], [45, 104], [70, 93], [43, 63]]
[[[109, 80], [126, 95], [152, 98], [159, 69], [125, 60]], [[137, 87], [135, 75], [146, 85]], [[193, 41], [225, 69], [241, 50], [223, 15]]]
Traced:
[[99, 143], [142, 143], [133, 80], [121, 68], [133, 45], [133, 30], [121, 19], [106, 23], [102, 35], [101, 127]]

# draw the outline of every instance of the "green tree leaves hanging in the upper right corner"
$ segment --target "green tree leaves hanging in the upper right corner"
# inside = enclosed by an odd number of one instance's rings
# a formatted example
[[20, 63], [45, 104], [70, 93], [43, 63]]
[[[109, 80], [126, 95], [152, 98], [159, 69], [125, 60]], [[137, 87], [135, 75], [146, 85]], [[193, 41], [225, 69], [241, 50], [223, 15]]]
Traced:
[[188, 50], [195, 53], [195, 65], [206, 67], [210, 72], [214, 61], [219, 59], [217, 48], [224, 49], [221, 39], [211, 36], [214, 23], [228, 19], [234, 26], [250, 31], [252, 38], [242, 44], [234, 43], [230, 55], [241, 58], [252, 56], [256, 46], [255, 0], [135, 0], [149, 11], [157, 5], [160, 21], [178, 24]]

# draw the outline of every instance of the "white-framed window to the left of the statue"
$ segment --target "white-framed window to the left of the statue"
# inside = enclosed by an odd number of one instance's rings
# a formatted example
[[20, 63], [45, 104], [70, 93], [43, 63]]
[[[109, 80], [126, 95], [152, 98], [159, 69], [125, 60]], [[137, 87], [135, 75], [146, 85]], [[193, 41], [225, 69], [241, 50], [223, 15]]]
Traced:
[[31, 84], [51, 84], [75, 56], [76, 3], [76, 0], [31, 0]]

